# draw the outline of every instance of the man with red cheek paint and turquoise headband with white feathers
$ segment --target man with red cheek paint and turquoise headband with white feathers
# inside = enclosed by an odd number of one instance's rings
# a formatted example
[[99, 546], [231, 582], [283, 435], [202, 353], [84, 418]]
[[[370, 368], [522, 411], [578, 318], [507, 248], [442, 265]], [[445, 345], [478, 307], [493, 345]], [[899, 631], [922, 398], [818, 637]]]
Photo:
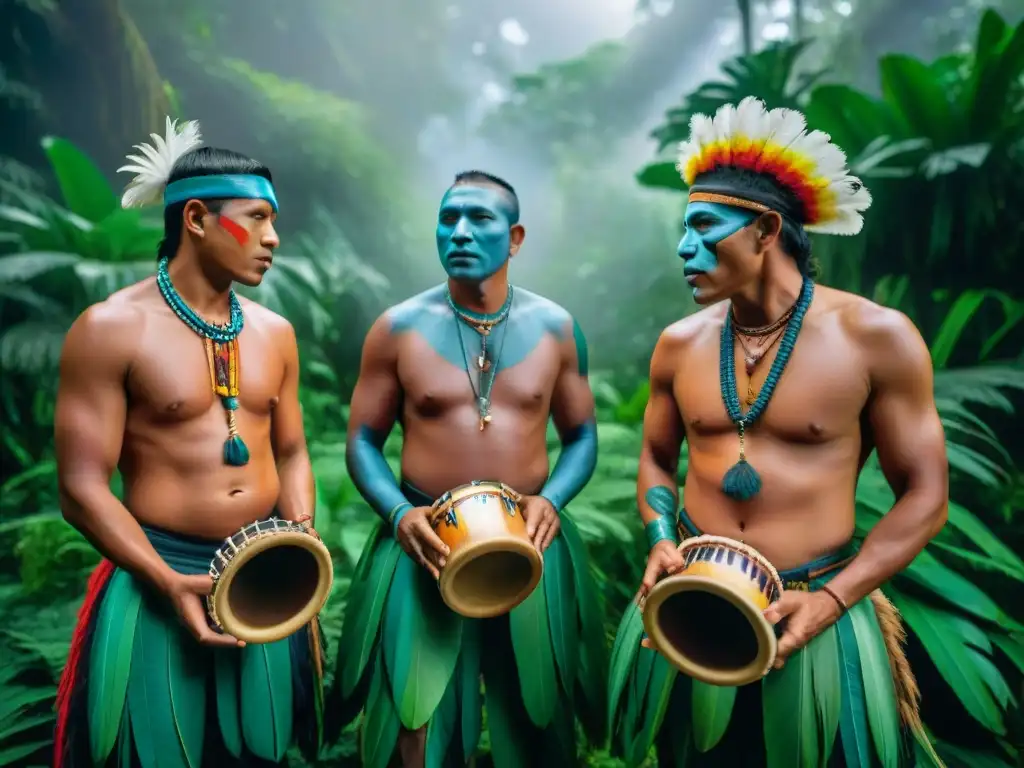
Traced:
[[60, 361], [61, 508], [104, 559], [60, 680], [55, 766], [273, 765], [319, 740], [316, 623], [246, 645], [208, 625], [204, 596], [226, 537], [313, 511], [294, 331], [231, 290], [270, 268], [278, 201], [265, 166], [200, 146], [195, 122], [153, 139], [119, 170], [136, 174], [123, 207], [163, 205], [157, 275], [86, 309]]

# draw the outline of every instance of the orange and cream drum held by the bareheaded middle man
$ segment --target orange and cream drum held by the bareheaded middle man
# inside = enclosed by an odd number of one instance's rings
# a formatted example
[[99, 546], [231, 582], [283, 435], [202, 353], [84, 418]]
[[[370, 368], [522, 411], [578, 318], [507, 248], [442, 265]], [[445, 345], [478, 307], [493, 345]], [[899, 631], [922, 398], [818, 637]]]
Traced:
[[478, 480], [434, 502], [430, 524], [451, 551], [438, 586], [457, 613], [508, 613], [540, 584], [544, 559], [526, 536], [520, 498], [503, 483]]

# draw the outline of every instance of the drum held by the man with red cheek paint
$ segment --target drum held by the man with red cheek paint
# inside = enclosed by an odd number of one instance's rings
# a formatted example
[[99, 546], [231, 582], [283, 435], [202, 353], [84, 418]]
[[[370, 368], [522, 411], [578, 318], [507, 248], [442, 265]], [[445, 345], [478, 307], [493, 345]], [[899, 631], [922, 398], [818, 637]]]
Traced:
[[334, 582], [331, 553], [305, 523], [271, 517], [224, 540], [210, 563], [207, 611], [247, 643], [272, 643], [309, 624]]

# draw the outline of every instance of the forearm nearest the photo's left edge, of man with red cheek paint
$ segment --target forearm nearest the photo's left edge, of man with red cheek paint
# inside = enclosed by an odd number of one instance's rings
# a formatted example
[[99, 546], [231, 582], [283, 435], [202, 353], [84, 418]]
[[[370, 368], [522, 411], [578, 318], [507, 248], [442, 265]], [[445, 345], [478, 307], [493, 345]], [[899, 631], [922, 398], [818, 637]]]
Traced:
[[103, 485], [90, 489], [60, 489], [65, 519], [84, 536], [99, 554], [119, 568], [160, 591], [174, 575], [157, 553], [138, 521]]

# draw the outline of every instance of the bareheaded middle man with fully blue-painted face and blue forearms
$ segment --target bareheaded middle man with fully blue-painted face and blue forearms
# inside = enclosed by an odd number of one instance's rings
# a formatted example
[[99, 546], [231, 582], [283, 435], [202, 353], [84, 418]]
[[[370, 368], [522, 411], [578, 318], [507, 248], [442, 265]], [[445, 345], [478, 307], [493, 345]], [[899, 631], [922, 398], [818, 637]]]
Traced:
[[[568, 312], [509, 284], [524, 234], [506, 181], [459, 174], [437, 214], [447, 280], [388, 309], [364, 345], [347, 465], [381, 523], [348, 596], [328, 706], [338, 725], [365, 700], [366, 766], [467, 764], [480, 737], [481, 677], [499, 768], [574, 764], [577, 714], [602, 738], [601, 611], [565, 510], [597, 459], [587, 346]], [[561, 438], [550, 474], [549, 418]], [[383, 453], [395, 423], [400, 481]], [[493, 618], [456, 613], [436, 583], [451, 553], [431, 505], [474, 481], [521, 495], [544, 558], [529, 597]]]

